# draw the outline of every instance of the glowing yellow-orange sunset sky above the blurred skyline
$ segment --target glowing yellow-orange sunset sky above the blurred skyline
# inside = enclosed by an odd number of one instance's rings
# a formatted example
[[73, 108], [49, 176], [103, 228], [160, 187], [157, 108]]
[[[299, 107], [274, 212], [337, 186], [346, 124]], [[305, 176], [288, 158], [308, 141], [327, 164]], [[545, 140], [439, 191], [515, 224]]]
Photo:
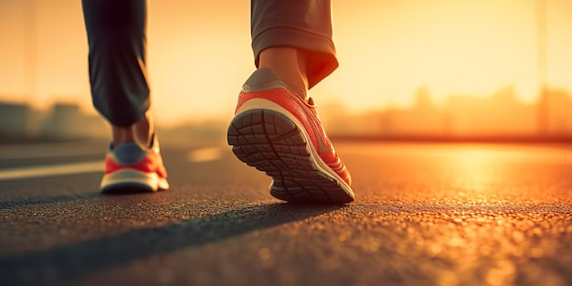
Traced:
[[[90, 107], [79, 0], [0, 0], [0, 101]], [[546, 0], [548, 83], [572, 90], [572, 1]], [[311, 95], [351, 111], [514, 85], [537, 96], [536, 0], [334, 0], [340, 68]], [[30, 31], [34, 33], [30, 33]], [[158, 122], [230, 117], [254, 69], [249, 1], [151, 1], [148, 62]], [[33, 44], [37, 43], [37, 48]]]

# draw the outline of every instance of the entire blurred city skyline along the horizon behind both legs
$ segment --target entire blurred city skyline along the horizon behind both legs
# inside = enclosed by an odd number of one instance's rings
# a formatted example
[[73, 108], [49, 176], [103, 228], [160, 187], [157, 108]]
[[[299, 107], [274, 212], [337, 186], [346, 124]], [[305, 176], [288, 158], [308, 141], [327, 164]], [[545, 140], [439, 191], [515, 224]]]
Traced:
[[[566, 90], [543, 90], [541, 101], [518, 101], [507, 86], [486, 97], [453, 95], [435, 102], [431, 90], [419, 88], [411, 107], [385, 106], [352, 112], [340, 102], [321, 106], [322, 122], [334, 139], [378, 141], [572, 141], [572, 95]], [[548, 108], [551, 112], [543, 113]], [[0, 143], [81, 138], [109, 139], [104, 120], [81, 111], [79, 104], [57, 102], [48, 111], [26, 104], [0, 101]], [[225, 143], [228, 121], [202, 119], [157, 128], [171, 143]]]

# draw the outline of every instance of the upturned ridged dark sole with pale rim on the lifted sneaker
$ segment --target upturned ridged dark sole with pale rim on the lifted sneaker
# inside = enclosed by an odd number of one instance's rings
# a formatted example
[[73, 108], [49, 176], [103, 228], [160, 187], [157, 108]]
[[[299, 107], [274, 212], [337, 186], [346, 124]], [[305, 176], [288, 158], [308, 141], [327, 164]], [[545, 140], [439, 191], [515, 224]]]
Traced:
[[354, 201], [349, 185], [323, 163], [299, 126], [280, 111], [240, 112], [228, 127], [228, 144], [240, 161], [272, 177], [270, 195], [276, 198], [314, 204]]

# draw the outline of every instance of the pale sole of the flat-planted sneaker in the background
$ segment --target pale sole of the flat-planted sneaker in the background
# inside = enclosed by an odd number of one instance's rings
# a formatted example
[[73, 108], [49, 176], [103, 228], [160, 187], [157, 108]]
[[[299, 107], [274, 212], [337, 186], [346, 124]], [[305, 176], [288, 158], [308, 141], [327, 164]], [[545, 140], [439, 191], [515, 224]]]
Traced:
[[132, 169], [103, 175], [101, 180], [101, 193], [104, 194], [152, 193], [168, 188], [166, 179]]

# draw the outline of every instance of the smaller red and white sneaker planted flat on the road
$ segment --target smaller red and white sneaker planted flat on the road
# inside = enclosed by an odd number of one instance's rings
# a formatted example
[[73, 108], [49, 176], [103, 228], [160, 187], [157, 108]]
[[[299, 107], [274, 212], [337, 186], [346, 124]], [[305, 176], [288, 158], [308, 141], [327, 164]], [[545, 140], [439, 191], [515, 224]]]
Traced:
[[137, 143], [121, 143], [117, 147], [110, 144], [110, 151], [105, 158], [101, 192], [142, 193], [168, 188], [167, 172], [155, 135], [149, 148], [143, 148]]

